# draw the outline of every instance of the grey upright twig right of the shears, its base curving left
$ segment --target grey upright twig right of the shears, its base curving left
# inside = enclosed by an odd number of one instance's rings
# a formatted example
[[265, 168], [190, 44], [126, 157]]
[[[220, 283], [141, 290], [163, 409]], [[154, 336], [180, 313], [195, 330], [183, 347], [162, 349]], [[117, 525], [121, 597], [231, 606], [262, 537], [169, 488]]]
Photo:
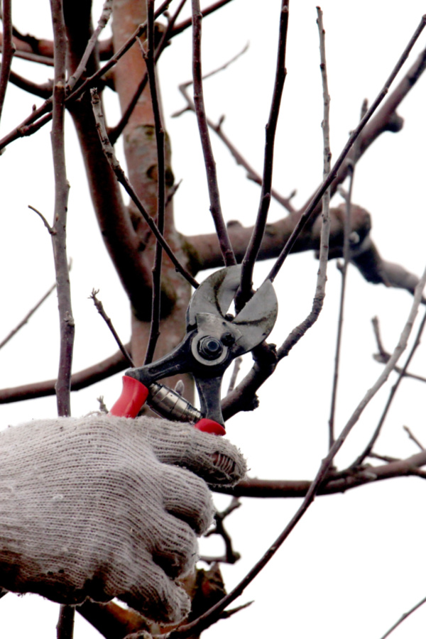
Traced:
[[[318, 12], [318, 29], [320, 31], [320, 69], [322, 77], [322, 97], [324, 102], [324, 116], [322, 119], [322, 136], [324, 146], [324, 163], [323, 163], [323, 179], [327, 180], [327, 175], [330, 170], [330, 163], [332, 153], [330, 151], [330, 131], [329, 131], [329, 89], [327, 81], [327, 62], [325, 58], [325, 31], [322, 26], [322, 11], [320, 7], [317, 7]], [[312, 309], [310, 314], [300, 322], [297, 327], [288, 335], [284, 344], [278, 349], [278, 360], [283, 359], [290, 352], [295, 344], [305, 335], [308, 329], [312, 327], [317, 321], [322, 307], [324, 305], [325, 297], [325, 285], [327, 283], [327, 266], [328, 266], [328, 254], [329, 254], [329, 236], [330, 236], [330, 190], [329, 188], [324, 191], [322, 197], [322, 225], [321, 225], [321, 237], [320, 237], [320, 265], [317, 275], [317, 288], [315, 290], [315, 297], [312, 302]]]

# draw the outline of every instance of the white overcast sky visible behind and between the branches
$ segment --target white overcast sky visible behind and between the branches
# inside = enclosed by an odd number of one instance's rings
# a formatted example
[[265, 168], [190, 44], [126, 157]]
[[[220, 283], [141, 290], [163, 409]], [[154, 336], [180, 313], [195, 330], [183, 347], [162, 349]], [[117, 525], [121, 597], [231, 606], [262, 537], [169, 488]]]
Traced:
[[[102, 3], [96, 1], [94, 6], [97, 21]], [[222, 65], [247, 42], [250, 44], [242, 58], [206, 82], [205, 99], [212, 119], [226, 115], [224, 131], [259, 171], [273, 89], [279, 6], [278, 0], [234, 0], [203, 23], [204, 72]], [[322, 9], [332, 97], [332, 153], [337, 158], [349, 131], [356, 126], [362, 100], [367, 97], [372, 102], [376, 97], [425, 6], [420, 0], [404, 5], [393, 0], [359, 0], [355, 5], [324, 0]], [[23, 33], [50, 37], [47, 1], [28, 4], [26, 0], [15, 0], [13, 16]], [[307, 200], [322, 178], [322, 87], [316, 17], [314, 2], [294, 1], [290, 5], [288, 77], [277, 133], [274, 186], [283, 195], [297, 189], [296, 205]], [[403, 73], [425, 45], [426, 32]], [[164, 53], [160, 80], [173, 144], [175, 179], [182, 180], [175, 195], [176, 224], [186, 234], [197, 234], [212, 232], [213, 224], [195, 116], [187, 113], [178, 119], [170, 118], [184, 106], [178, 84], [190, 79], [190, 52], [187, 31]], [[35, 67], [21, 60], [13, 62], [13, 68], [39, 82], [53, 75], [51, 68]], [[374, 143], [356, 168], [354, 183], [354, 202], [371, 212], [372, 236], [383, 257], [418, 275], [426, 261], [425, 87], [426, 78], [422, 77], [398, 109], [405, 119], [403, 130], [396, 135], [385, 133]], [[33, 104], [40, 104], [40, 100], [10, 87], [1, 136], [21, 123]], [[118, 110], [110, 92], [107, 105], [109, 123], [114, 124]], [[67, 125], [71, 184], [68, 253], [73, 261], [72, 304], [76, 321], [73, 370], [80, 371], [116, 351], [107, 327], [87, 299], [92, 288], [100, 289], [99, 297], [124, 341], [130, 337], [130, 315], [94, 219], [70, 119]], [[244, 170], [236, 167], [213, 135], [212, 140], [226, 219], [251, 225], [256, 217], [259, 188], [246, 180]], [[1, 340], [54, 280], [50, 236], [28, 209], [31, 204], [52, 219], [50, 126], [32, 138], [13, 143], [0, 162], [0, 295], [4, 300]], [[332, 204], [341, 201], [336, 196]], [[273, 202], [271, 221], [284, 215], [282, 207]], [[270, 266], [258, 266], [257, 283], [261, 283]], [[309, 312], [316, 273], [317, 261], [312, 253], [306, 253], [292, 256], [275, 280], [280, 313], [271, 336], [273, 342], [281, 344]], [[261, 408], [228, 422], [229, 438], [246, 454], [251, 476], [312, 479], [327, 452], [340, 279], [333, 261], [329, 264], [327, 297], [320, 320], [261, 389]], [[349, 270], [337, 432], [381, 373], [381, 365], [372, 358], [376, 345], [371, 317], [380, 318], [383, 342], [391, 351], [411, 302], [408, 293], [368, 285], [354, 268]], [[1, 350], [1, 387], [54, 378], [58, 342], [58, 312], [52, 295], [28, 326]], [[250, 356], [246, 360], [244, 370], [251, 365]], [[420, 346], [411, 370], [425, 375], [424, 346]], [[364, 449], [389, 388], [388, 383], [368, 406], [337, 457], [339, 467], [349, 464]], [[96, 410], [99, 395], [104, 395], [111, 406], [120, 391], [121, 375], [73, 393], [72, 413], [84, 415]], [[424, 398], [422, 383], [404, 381], [376, 446], [378, 452], [395, 457], [417, 452], [403, 425], [426, 442]], [[55, 413], [55, 398], [1, 405], [1, 427], [53, 417]], [[229, 498], [217, 498], [219, 508], [227, 503]], [[421, 479], [391, 480], [345, 495], [317, 498], [278, 555], [236, 602], [255, 603], [203, 636], [213, 639], [220, 633], [222, 639], [231, 639], [250, 632], [291, 639], [379, 639], [402, 613], [426, 596], [425, 503], [426, 485]], [[238, 564], [223, 567], [228, 589], [263, 555], [299, 505], [299, 500], [243, 500], [243, 506], [228, 521], [236, 550], [242, 555]], [[202, 542], [202, 552], [222, 552], [220, 540]], [[35, 639], [54, 638], [57, 618], [58, 606], [37, 596], [18, 598], [9, 594], [0, 600], [1, 637], [23, 639], [31, 634]], [[393, 637], [424, 638], [425, 624], [426, 606], [405, 621]], [[77, 615], [75, 639], [97, 637], [97, 631]]]

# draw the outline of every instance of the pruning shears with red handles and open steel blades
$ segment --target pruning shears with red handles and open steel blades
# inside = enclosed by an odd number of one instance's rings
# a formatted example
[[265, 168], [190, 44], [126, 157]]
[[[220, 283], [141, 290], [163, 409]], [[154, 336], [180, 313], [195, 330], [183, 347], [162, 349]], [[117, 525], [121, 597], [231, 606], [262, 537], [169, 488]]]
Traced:
[[[129, 368], [123, 391], [111, 414], [136, 417], [144, 403], [169, 420], [195, 422], [195, 428], [224, 435], [220, 407], [222, 377], [236, 357], [251, 351], [271, 333], [278, 302], [266, 280], [234, 317], [228, 310], [239, 288], [241, 266], [227, 266], [210, 275], [197, 288], [187, 308], [187, 329], [182, 342], [152, 364]], [[192, 373], [200, 395], [200, 410], [159, 379]]]

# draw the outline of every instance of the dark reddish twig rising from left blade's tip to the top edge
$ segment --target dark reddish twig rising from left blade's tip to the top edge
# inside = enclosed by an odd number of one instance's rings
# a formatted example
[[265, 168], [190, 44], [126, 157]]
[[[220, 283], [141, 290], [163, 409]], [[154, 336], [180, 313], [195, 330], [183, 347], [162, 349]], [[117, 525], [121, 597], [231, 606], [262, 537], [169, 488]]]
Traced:
[[216, 227], [225, 266], [232, 266], [236, 264], [236, 259], [222, 214], [219, 186], [217, 184], [216, 163], [214, 162], [209, 126], [207, 124], [206, 110], [204, 107], [201, 68], [201, 23], [202, 13], [200, 10], [200, 0], [192, 0], [192, 77], [194, 80], [195, 113], [197, 114], [202, 153], [204, 155], [204, 165], [207, 174], [210, 212], [212, 213], [214, 226]]

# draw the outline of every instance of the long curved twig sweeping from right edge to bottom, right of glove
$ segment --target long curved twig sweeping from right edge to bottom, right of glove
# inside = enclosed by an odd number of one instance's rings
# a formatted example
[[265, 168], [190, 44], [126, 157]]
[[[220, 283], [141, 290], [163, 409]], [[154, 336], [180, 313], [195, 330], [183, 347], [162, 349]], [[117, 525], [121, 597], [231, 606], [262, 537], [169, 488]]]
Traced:
[[[368, 391], [364, 395], [364, 398], [362, 398], [361, 402], [354, 410], [354, 413], [352, 413], [351, 417], [349, 418], [349, 421], [346, 423], [339, 437], [337, 437], [331, 449], [329, 449], [327, 457], [324, 457], [324, 459], [322, 460], [320, 469], [318, 470], [314, 481], [312, 481], [312, 484], [310, 484], [310, 487], [307, 490], [305, 499], [303, 500], [300, 507], [297, 509], [295, 515], [293, 515], [293, 518], [290, 520], [288, 525], [285, 526], [283, 532], [280, 533], [280, 535], [277, 537], [275, 542], [273, 542], [271, 547], [268, 548], [268, 550], [263, 555], [263, 557], [259, 559], [259, 561], [246, 574], [246, 577], [244, 577], [244, 579], [241, 579], [239, 584], [229, 594], [224, 596], [218, 603], [212, 606], [212, 608], [210, 608], [207, 612], [202, 614], [199, 618], [195, 619], [191, 623], [185, 624], [185, 626], [180, 626], [180, 628], [177, 628], [176, 630], [174, 630], [172, 633], [173, 636], [177, 635], [180, 637], [187, 637], [192, 635], [192, 633], [195, 632], [195, 629], [197, 629], [197, 632], [200, 632], [201, 630], [211, 626], [212, 623], [214, 623], [217, 620], [218, 615], [225, 608], [227, 608], [227, 606], [229, 606], [229, 604], [232, 603], [232, 601], [234, 601], [237, 597], [241, 595], [244, 589], [246, 589], [246, 586], [248, 586], [251, 583], [251, 581], [253, 581], [253, 579], [255, 579], [255, 577], [259, 574], [259, 572], [261, 572], [261, 570], [266, 566], [266, 564], [268, 564], [268, 562], [272, 559], [273, 555], [275, 555], [275, 552], [277, 552], [280, 546], [283, 545], [283, 542], [285, 542], [285, 540], [287, 539], [288, 535], [290, 535], [290, 532], [293, 531], [297, 523], [299, 523], [300, 519], [303, 517], [303, 515], [305, 515], [307, 509], [310, 507], [310, 505], [314, 501], [314, 498], [315, 498], [315, 495], [317, 494], [318, 489], [322, 485], [324, 479], [327, 478], [327, 473], [329, 471], [330, 466], [332, 465], [332, 461], [334, 457], [339, 452], [339, 449], [344, 444], [346, 438], [348, 437], [349, 433], [351, 432], [356, 422], [358, 422], [359, 417], [361, 417], [361, 414], [364, 412], [364, 409], [366, 408], [368, 403], [370, 403], [374, 395], [376, 395], [376, 393], [381, 388], [381, 386], [383, 386], [383, 384], [386, 382], [388, 376], [391, 374], [391, 371], [393, 370], [393, 366], [395, 366], [395, 363], [398, 361], [400, 355], [403, 353], [404, 349], [406, 348], [408, 337], [410, 337], [410, 332], [411, 332], [411, 329], [413, 328], [413, 322], [415, 320], [415, 316], [417, 315], [417, 310], [420, 305], [420, 301], [422, 299], [422, 290], [425, 287], [425, 283], [426, 283], [426, 268], [422, 275], [422, 278], [420, 279], [419, 285], [417, 285], [416, 287], [415, 296], [414, 296], [413, 304], [410, 310], [410, 314], [408, 316], [408, 320], [405, 323], [405, 327], [403, 328], [403, 332], [400, 335], [400, 339], [395, 348], [395, 351], [393, 351], [391, 359], [389, 360], [388, 364], [386, 364], [386, 367], [383, 369], [376, 383], [373, 384], [373, 386], [368, 389]], [[420, 453], [420, 455], [422, 455], [422, 453]]]

